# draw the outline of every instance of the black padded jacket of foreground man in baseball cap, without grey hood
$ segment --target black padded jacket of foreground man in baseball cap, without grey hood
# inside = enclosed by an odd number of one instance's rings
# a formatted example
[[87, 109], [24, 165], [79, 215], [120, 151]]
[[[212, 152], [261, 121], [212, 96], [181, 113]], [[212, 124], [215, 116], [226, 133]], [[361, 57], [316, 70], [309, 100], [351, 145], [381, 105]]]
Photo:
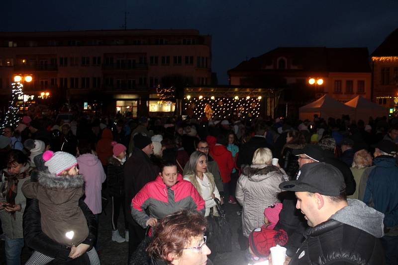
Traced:
[[305, 241], [289, 265], [384, 265], [380, 240], [330, 219], [305, 233]]

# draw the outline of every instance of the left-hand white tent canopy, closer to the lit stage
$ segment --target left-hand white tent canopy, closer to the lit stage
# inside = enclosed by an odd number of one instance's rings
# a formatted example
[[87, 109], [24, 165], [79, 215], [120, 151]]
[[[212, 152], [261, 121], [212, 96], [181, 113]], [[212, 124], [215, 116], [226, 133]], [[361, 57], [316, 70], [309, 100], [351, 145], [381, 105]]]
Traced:
[[355, 109], [353, 107], [338, 102], [328, 94], [325, 94], [314, 102], [302, 106], [298, 110], [299, 118], [302, 121], [305, 119], [312, 121], [314, 114], [317, 114], [318, 117], [323, 119], [328, 119], [330, 117], [339, 119], [342, 115], [349, 115], [350, 118], [354, 118], [355, 116]]

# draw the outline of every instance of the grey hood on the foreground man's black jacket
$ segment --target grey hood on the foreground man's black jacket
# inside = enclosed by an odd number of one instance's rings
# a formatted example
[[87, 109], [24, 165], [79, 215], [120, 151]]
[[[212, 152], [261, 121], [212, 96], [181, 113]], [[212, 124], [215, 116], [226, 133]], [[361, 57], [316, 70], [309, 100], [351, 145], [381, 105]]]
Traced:
[[347, 199], [348, 206], [338, 210], [329, 219], [351, 225], [377, 238], [384, 236], [384, 214], [358, 199]]

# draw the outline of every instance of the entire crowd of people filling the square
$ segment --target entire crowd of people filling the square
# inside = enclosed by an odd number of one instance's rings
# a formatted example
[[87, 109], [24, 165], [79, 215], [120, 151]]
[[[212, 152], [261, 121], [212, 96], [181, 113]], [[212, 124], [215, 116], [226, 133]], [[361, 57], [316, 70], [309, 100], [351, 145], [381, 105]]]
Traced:
[[292, 265], [398, 264], [398, 119], [24, 116], [2, 134], [7, 265], [24, 244], [28, 265], [100, 264], [104, 201], [129, 264], [211, 264], [206, 219], [225, 203], [250, 264], [276, 245]]

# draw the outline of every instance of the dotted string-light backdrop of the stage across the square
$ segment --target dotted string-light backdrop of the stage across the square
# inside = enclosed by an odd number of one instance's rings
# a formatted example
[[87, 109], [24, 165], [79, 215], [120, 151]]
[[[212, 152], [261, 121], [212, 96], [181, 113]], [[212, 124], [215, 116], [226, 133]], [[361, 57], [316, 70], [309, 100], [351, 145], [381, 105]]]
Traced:
[[230, 116], [242, 118], [254, 117], [260, 115], [261, 97], [185, 97], [185, 110], [191, 108], [195, 117], [214, 117], [226, 119]]

